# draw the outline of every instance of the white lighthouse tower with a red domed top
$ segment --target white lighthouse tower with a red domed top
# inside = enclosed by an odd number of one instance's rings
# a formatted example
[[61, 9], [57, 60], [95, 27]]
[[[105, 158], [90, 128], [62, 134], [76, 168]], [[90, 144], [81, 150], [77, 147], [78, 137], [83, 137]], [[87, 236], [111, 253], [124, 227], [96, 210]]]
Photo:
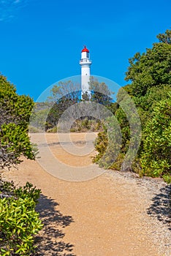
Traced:
[[80, 66], [81, 66], [81, 90], [82, 94], [88, 93], [88, 96], [90, 96], [89, 91], [89, 79], [90, 79], [90, 67], [91, 67], [91, 59], [89, 50], [84, 46], [83, 50], [81, 51], [81, 59], [80, 59]]

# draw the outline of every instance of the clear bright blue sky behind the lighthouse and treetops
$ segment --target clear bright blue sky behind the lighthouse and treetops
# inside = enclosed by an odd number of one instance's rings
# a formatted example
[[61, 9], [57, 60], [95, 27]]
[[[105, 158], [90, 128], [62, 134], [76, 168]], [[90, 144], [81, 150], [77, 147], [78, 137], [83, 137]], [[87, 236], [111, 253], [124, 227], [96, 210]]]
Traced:
[[134, 53], [170, 29], [170, 0], [0, 0], [0, 72], [34, 99], [47, 86], [80, 75], [83, 45], [91, 74], [126, 84]]

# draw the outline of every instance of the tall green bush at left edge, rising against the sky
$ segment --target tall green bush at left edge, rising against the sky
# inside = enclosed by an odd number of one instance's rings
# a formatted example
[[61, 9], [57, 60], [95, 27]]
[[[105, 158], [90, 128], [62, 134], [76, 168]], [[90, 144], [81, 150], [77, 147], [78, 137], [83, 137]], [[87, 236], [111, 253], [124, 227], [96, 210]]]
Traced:
[[28, 138], [28, 121], [33, 100], [16, 93], [15, 86], [0, 75], [0, 167], [20, 162], [20, 156], [34, 159]]

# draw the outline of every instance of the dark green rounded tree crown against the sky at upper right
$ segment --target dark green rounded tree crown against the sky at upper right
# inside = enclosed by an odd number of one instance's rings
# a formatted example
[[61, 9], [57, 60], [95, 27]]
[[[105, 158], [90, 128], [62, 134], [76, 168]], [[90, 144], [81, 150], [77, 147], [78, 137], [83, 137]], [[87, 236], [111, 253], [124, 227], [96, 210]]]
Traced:
[[[171, 34], [167, 30], [166, 34]], [[154, 43], [153, 48], [145, 53], [136, 53], [129, 59], [126, 80], [131, 80], [132, 94], [135, 97], [145, 96], [153, 86], [171, 84], [171, 45], [170, 37], [160, 34], [161, 42]]]

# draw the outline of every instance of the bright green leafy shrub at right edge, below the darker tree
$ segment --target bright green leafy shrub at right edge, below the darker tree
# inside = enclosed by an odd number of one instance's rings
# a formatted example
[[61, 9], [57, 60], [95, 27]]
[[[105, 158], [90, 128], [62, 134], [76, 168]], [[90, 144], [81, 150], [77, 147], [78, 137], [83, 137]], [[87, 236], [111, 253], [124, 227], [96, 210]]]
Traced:
[[[170, 93], [168, 93], [170, 94]], [[153, 116], [142, 134], [141, 166], [143, 175], [171, 177], [171, 94], [153, 108]]]

